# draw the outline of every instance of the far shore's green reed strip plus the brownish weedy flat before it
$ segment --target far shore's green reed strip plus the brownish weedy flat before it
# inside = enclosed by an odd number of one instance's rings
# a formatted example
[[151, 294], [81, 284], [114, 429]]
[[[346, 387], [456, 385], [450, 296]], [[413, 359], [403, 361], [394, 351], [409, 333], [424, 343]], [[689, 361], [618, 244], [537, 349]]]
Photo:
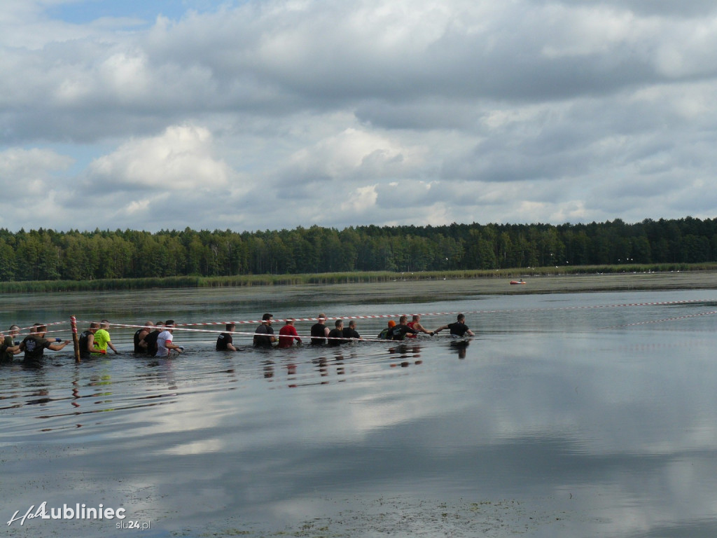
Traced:
[[[523, 279], [524, 285], [510, 280]], [[399, 282], [416, 285], [460, 280], [469, 293], [527, 294], [590, 291], [717, 289], [717, 264], [593, 266], [505, 270], [431, 271], [417, 273], [320, 273], [311, 275], [237, 275], [227, 277], [125, 278], [108, 280], [42, 280], [0, 283], [0, 293], [133, 291], [164, 288], [232, 288], [262, 285], [333, 285], [377, 283], [390, 290]]]

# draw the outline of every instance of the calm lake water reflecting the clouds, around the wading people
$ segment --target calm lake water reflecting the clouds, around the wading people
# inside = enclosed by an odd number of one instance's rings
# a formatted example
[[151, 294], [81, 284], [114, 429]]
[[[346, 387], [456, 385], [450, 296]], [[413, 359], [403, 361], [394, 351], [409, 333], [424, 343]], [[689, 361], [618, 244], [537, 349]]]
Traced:
[[[341, 349], [125, 351], [0, 369], [4, 524], [124, 508], [145, 537], [705, 537], [717, 534], [715, 291], [472, 296], [412, 284], [1, 296], [0, 326], [467, 312], [477, 333]], [[282, 324], [275, 324], [278, 329]], [[359, 321], [375, 336], [385, 319]], [[309, 322], [298, 322], [300, 334]], [[196, 328], [196, 327], [194, 327]], [[255, 325], [239, 326], [252, 332]], [[67, 349], [70, 349], [69, 347]], [[27, 519], [10, 536], [128, 536]]]

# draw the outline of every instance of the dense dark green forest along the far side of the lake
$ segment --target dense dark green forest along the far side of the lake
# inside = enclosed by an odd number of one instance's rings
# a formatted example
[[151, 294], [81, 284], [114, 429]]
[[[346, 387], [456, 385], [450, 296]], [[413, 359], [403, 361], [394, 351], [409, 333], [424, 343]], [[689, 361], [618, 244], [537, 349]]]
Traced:
[[717, 219], [295, 230], [0, 230], [0, 280], [418, 272], [717, 261]]

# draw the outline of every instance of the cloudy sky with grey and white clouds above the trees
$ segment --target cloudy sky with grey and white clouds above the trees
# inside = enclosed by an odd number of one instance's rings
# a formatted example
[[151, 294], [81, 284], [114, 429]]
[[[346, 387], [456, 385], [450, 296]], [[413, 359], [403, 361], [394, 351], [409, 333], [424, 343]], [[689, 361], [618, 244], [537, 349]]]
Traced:
[[712, 0], [3, 0], [0, 228], [717, 217]]

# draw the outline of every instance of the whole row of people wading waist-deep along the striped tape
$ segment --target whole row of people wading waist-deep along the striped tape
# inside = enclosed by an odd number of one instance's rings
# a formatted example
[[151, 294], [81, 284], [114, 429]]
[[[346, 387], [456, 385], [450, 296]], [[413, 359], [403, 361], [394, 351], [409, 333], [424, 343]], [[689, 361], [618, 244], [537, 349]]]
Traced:
[[[416, 338], [418, 334], [429, 334], [433, 336], [440, 331], [448, 329], [452, 336], [463, 337], [465, 335], [474, 336], [473, 332], [465, 325], [465, 316], [458, 314], [457, 321], [447, 324], [433, 331], [429, 331], [420, 322], [420, 316], [412, 316], [412, 321], [408, 321], [408, 316], [400, 316], [399, 322], [391, 320], [388, 326], [377, 336], [378, 339], [384, 340], [404, 340], [405, 338]], [[344, 326], [343, 319], [337, 319], [334, 322], [334, 328], [329, 329], [325, 322], [326, 314], [320, 313], [317, 323], [313, 324], [310, 329], [309, 341], [312, 346], [340, 346], [351, 341], [361, 341], [363, 338], [356, 331], [356, 320], [349, 320]], [[265, 313], [262, 316], [260, 326], [257, 326], [253, 345], [259, 348], [288, 348], [296, 344], [301, 345], [302, 340], [298, 335], [294, 326], [294, 320], [288, 319], [285, 325], [279, 331], [278, 337], [274, 333], [272, 323], [274, 316]], [[133, 337], [134, 352], [136, 354], [148, 354], [151, 357], [167, 357], [171, 351], [181, 353], [184, 351], [183, 346], [174, 344], [173, 331], [175, 322], [172, 319], [167, 321], [147, 321], [141, 329], [138, 329]], [[90, 357], [101, 357], [108, 353], [111, 349], [115, 354], [120, 352], [110, 339], [110, 321], [103, 319], [100, 322], [92, 321], [90, 327], [82, 331], [78, 336], [78, 345], [80, 351], [80, 359]], [[217, 337], [217, 351], [237, 351], [234, 345], [232, 334], [236, 329], [236, 324], [229, 323], [225, 327], [225, 331]], [[70, 340], [62, 341], [60, 338], [47, 339], [47, 326], [44, 324], [34, 324], [30, 334], [24, 337], [22, 341], [17, 340], [20, 334], [20, 328], [17, 325], [10, 326], [8, 334], [0, 332], [0, 359], [4, 363], [12, 362], [16, 354], [24, 352], [24, 363], [37, 363], [42, 359], [44, 350], [60, 351]]]

